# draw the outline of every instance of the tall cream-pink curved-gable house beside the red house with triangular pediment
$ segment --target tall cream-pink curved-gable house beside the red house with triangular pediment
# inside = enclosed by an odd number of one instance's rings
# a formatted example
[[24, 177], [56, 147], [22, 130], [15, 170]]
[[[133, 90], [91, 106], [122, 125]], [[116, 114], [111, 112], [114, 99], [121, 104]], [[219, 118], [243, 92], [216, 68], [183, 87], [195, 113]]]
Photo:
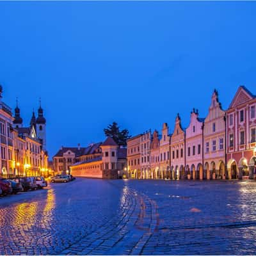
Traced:
[[214, 90], [209, 112], [204, 121], [203, 179], [226, 179], [225, 115], [219, 102], [218, 92]]

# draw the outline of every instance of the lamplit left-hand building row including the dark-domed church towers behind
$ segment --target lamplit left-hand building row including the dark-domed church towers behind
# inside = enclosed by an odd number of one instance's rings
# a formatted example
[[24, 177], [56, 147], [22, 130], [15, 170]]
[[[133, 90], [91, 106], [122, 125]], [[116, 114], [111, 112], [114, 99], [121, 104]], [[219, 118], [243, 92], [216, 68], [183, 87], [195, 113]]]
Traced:
[[44, 111], [33, 112], [30, 125], [23, 127], [20, 109], [3, 102], [3, 87], [0, 86], [0, 177], [44, 175], [48, 171], [46, 151], [46, 120]]

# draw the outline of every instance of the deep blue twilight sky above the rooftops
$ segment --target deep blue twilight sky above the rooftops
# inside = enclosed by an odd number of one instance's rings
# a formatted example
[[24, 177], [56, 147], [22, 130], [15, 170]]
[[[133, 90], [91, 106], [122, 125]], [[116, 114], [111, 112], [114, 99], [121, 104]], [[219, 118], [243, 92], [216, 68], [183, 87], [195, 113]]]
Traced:
[[205, 117], [214, 88], [228, 107], [256, 93], [255, 2], [1, 2], [4, 102], [29, 123], [38, 99], [50, 156], [104, 139]]

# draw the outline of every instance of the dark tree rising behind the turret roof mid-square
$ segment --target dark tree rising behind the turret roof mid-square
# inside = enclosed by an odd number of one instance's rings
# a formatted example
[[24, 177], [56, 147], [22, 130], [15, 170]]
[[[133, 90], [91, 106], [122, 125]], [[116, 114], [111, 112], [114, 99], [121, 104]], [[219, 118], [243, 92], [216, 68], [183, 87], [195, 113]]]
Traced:
[[129, 131], [127, 129], [120, 131], [116, 122], [109, 124], [108, 127], [104, 129], [104, 133], [106, 136], [113, 138], [118, 146], [126, 146], [127, 139], [131, 138]]

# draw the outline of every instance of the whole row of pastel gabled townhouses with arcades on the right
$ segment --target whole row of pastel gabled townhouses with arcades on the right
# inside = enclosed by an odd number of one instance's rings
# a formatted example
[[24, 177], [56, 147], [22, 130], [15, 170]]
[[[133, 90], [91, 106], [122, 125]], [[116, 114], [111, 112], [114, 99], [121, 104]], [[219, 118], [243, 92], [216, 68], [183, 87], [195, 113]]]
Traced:
[[221, 108], [214, 90], [206, 118], [191, 111], [184, 129], [179, 114], [173, 133], [146, 131], [127, 141], [132, 179], [255, 179], [256, 96], [240, 86], [230, 106]]

